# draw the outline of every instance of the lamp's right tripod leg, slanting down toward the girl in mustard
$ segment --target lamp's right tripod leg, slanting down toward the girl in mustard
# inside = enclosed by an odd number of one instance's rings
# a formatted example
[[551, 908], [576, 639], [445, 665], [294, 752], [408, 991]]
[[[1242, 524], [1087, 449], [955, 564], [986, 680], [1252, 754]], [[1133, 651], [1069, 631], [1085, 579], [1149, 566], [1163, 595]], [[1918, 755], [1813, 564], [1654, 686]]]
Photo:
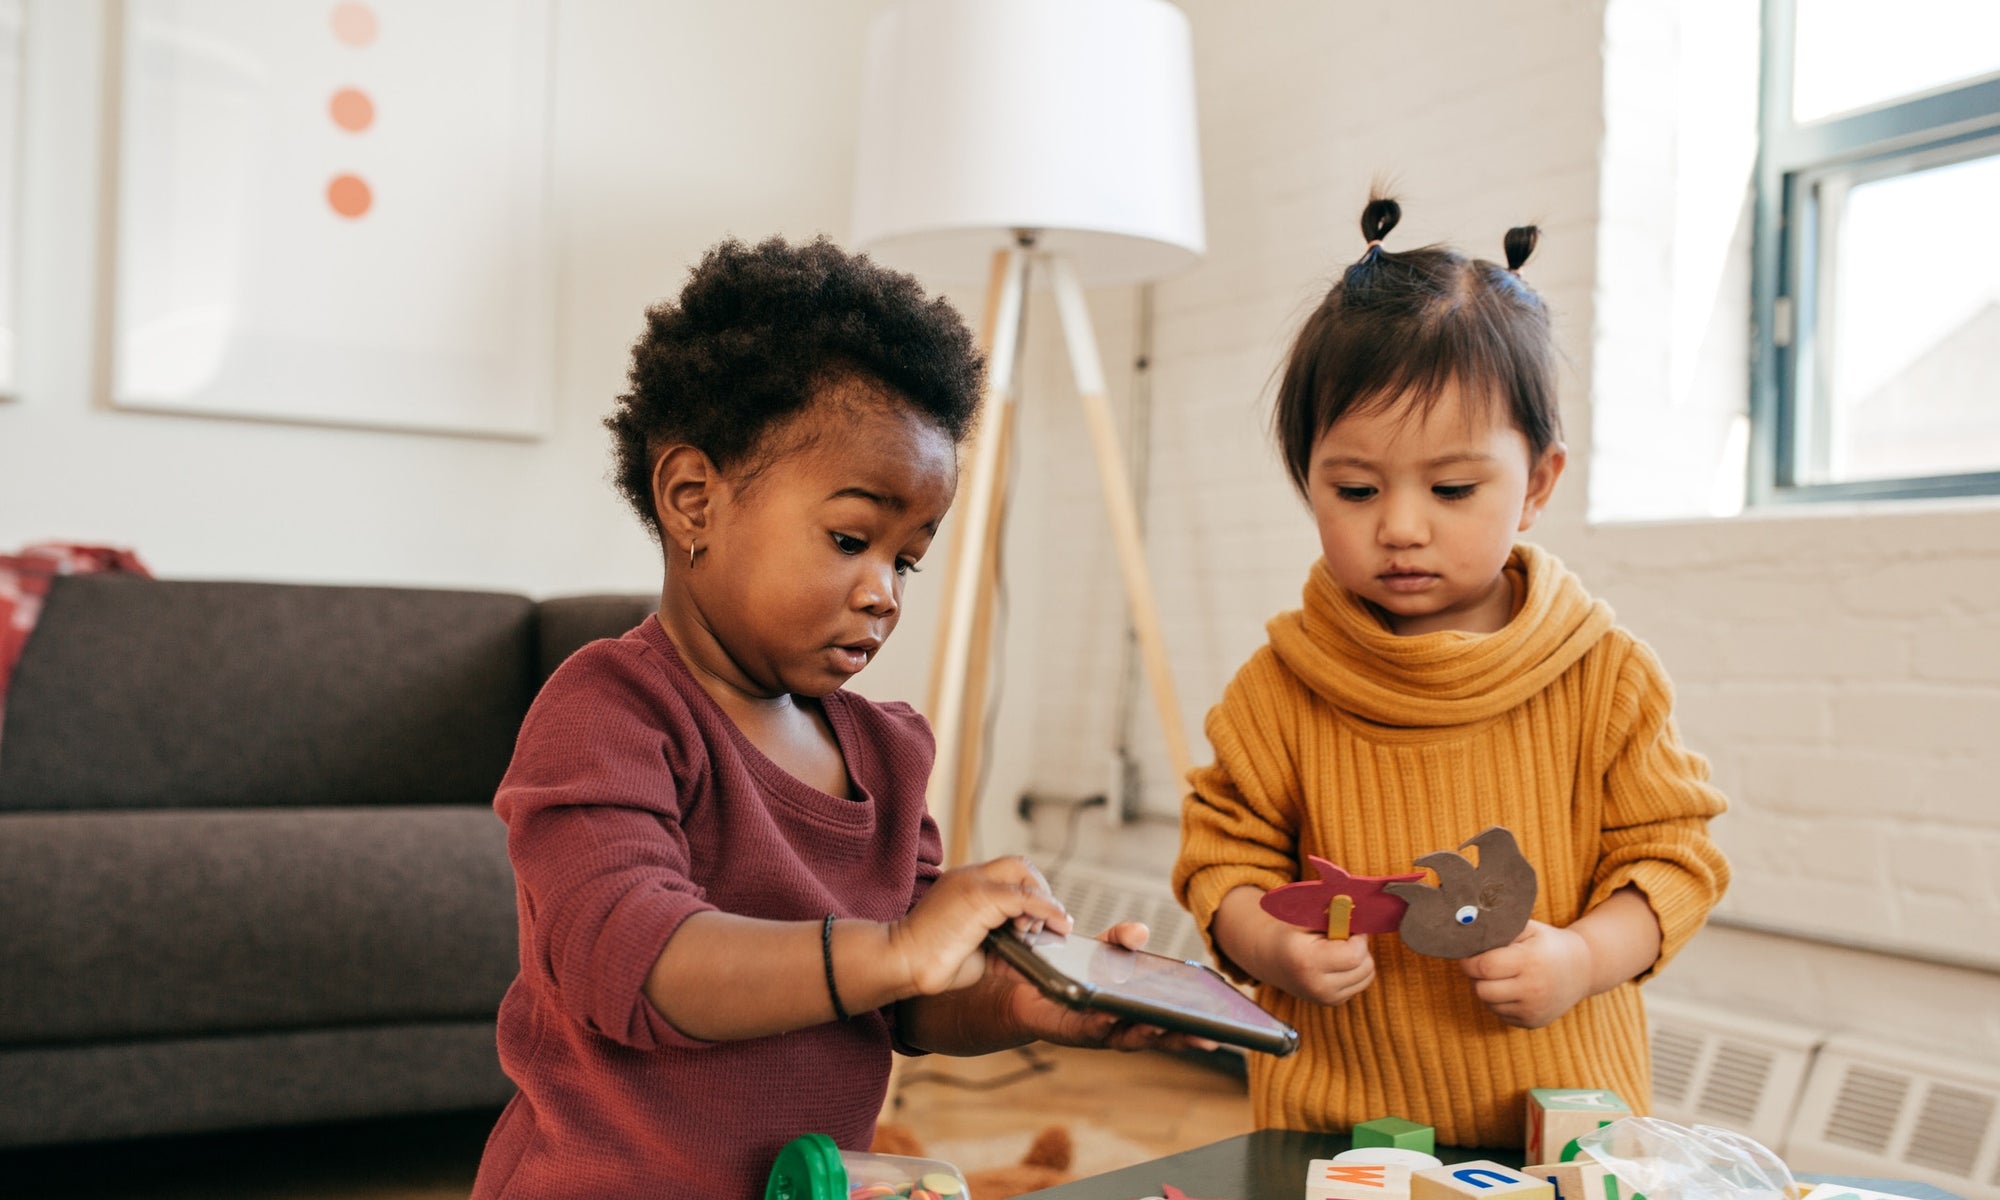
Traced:
[[1126, 604], [1132, 610], [1132, 630], [1138, 634], [1146, 678], [1152, 682], [1152, 702], [1166, 734], [1166, 756], [1174, 766], [1174, 786], [1180, 788], [1194, 768], [1188, 738], [1180, 726], [1180, 704], [1174, 698], [1174, 676], [1168, 670], [1166, 640], [1160, 634], [1160, 612], [1152, 602], [1152, 576], [1146, 570], [1146, 546], [1138, 532], [1138, 508], [1132, 504], [1132, 482], [1124, 458], [1118, 456], [1118, 426], [1104, 396], [1104, 366], [1098, 360], [1098, 340], [1090, 328], [1090, 308], [1076, 268], [1066, 258], [1048, 258], [1056, 282], [1056, 308], [1062, 314], [1062, 340], [1070, 348], [1070, 370], [1076, 392], [1090, 422], [1090, 444], [1096, 450], [1098, 478], [1104, 484], [1104, 508], [1112, 520], [1112, 540], [1118, 544], [1118, 570], [1124, 576]]

